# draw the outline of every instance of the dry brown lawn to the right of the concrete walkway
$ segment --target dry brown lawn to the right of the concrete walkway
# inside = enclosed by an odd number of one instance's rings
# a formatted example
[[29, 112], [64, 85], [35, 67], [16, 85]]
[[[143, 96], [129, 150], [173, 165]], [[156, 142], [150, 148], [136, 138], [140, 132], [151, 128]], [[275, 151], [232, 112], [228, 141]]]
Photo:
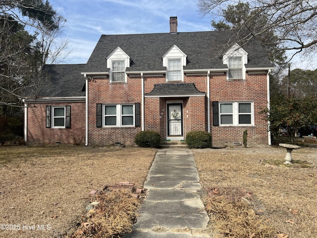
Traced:
[[[261, 162], [261, 160], [279, 161], [277, 164], [282, 164], [285, 154], [286, 150], [283, 148], [268, 146], [194, 151], [203, 186], [239, 187], [253, 192], [254, 200], [250, 201], [247, 208], [251, 206], [258, 214], [252, 215], [255, 219], [254, 223], [262, 219], [262, 224], [258, 225], [266, 226], [268, 230], [273, 229], [274, 233], [279, 233], [280, 237], [285, 234], [285, 238], [316, 238], [317, 169], [298, 166], [280, 167]], [[292, 155], [295, 160], [317, 163], [316, 148], [302, 148], [293, 151]], [[245, 227], [245, 224], [250, 221], [248, 216], [240, 210], [242, 206], [240, 203], [232, 206], [230, 202], [223, 199], [221, 201], [220, 198], [207, 201], [207, 208], [210, 209], [211, 215], [211, 229], [220, 229], [219, 227], [228, 229], [227, 225], [221, 224], [223, 222], [221, 209], [225, 208], [225, 212], [228, 210], [228, 213], [230, 210], [236, 212], [235, 215], [230, 215], [233, 220], [229, 225], [241, 223], [238, 229], [240, 232], [245, 230], [242, 235], [237, 232], [237, 234], [230, 234], [230, 237], [270, 237], [268, 234], [265, 236], [256, 234], [259, 230], [258, 226], [253, 231], [249, 230], [250, 226]], [[233, 209], [234, 207], [236, 209]], [[220, 213], [220, 216], [217, 213]], [[241, 214], [244, 215], [237, 217]], [[217, 231], [228, 235], [226, 230]]]

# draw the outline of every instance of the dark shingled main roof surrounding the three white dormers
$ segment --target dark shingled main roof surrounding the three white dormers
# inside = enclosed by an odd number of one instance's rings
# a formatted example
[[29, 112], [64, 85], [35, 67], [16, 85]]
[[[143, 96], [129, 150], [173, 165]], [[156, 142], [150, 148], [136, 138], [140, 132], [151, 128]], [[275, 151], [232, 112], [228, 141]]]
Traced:
[[[184, 70], [221, 69], [225, 67], [221, 56], [231, 47], [228, 45], [230, 37], [230, 31], [102, 35], [85, 70], [108, 71], [106, 57], [120, 47], [131, 58], [126, 72], [164, 71], [166, 68], [163, 67], [162, 57], [173, 45], [188, 56]], [[247, 68], [272, 67], [257, 42], [250, 42], [243, 46], [243, 49], [249, 53]]]

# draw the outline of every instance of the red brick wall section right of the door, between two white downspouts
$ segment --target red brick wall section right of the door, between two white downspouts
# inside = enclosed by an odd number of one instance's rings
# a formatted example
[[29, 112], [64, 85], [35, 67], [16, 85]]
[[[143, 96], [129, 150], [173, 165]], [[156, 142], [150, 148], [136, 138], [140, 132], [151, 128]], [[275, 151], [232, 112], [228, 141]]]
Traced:
[[243, 142], [243, 131], [248, 130], [248, 145], [267, 144], [267, 121], [260, 111], [267, 107], [266, 75], [247, 75], [245, 81], [227, 81], [226, 76], [211, 76], [212, 101], [253, 101], [254, 126], [212, 126], [212, 146], [231, 146]]

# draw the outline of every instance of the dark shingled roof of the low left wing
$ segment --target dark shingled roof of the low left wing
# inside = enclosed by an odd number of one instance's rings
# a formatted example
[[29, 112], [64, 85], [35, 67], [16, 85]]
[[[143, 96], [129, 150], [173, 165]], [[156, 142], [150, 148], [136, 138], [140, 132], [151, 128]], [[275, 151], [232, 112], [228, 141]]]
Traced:
[[85, 77], [80, 74], [86, 64], [52, 64], [43, 70], [50, 75], [49, 83], [41, 88], [38, 97], [85, 96]]

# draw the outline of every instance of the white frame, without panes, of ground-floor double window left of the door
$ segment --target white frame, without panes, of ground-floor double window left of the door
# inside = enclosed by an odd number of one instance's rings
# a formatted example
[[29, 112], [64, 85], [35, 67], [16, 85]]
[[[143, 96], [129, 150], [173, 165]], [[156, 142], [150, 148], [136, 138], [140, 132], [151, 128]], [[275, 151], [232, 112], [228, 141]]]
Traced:
[[[106, 106], [116, 107], [116, 124], [106, 125], [106, 117], [111, 115], [106, 115]], [[122, 106], [132, 106], [133, 114], [122, 114]], [[113, 115], [114, 116], [114, 115]], [[133, 123], [131, 125], [123, 125], [123, 117], [133, 117]], [[135, 105], [134, 104], [103, 104], [103, 126], [104, 127], [135, 127]]]

